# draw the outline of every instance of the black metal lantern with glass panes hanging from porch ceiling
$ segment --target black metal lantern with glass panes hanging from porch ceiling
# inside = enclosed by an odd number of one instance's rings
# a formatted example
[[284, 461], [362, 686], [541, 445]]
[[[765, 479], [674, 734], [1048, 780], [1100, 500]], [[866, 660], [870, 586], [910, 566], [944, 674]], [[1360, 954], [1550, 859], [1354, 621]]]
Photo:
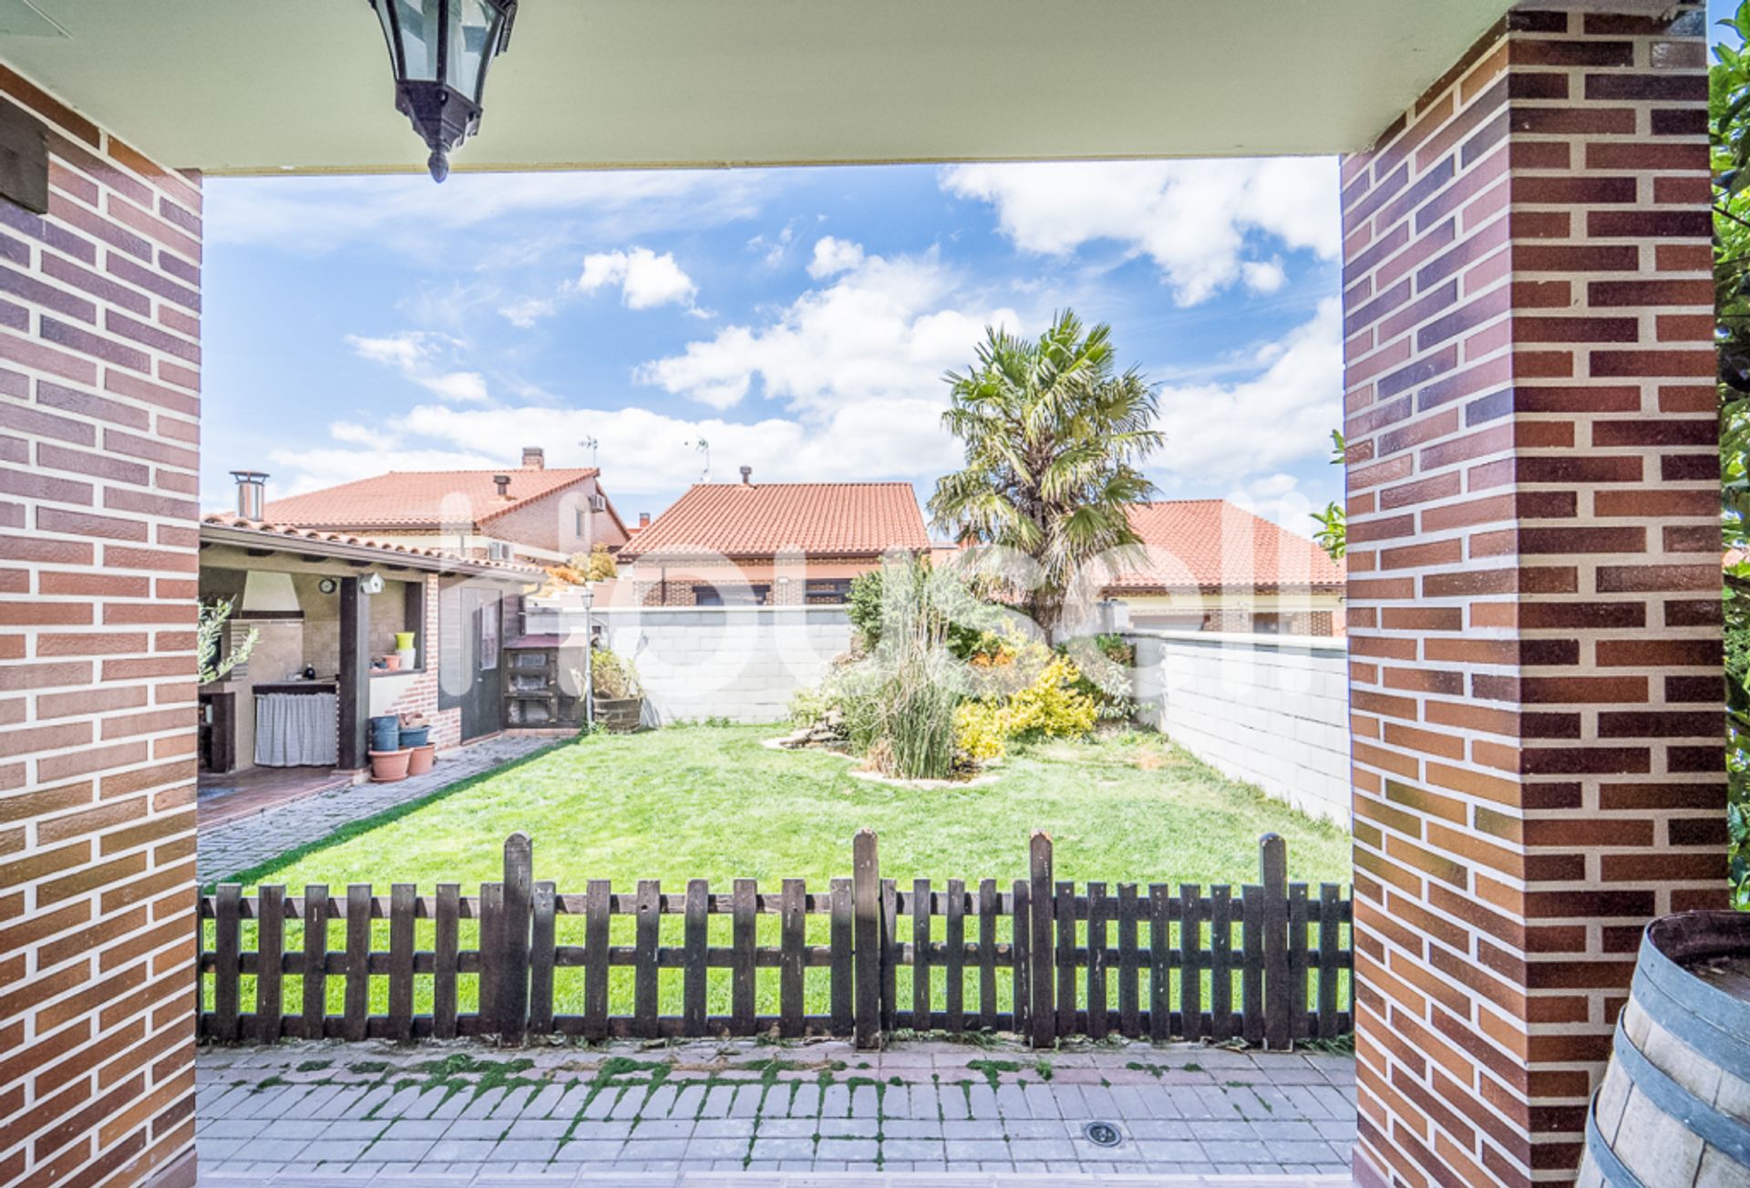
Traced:
[[516, 0], [369, 0], [396, 72], [396, 108], [430, 147], [432, 180], [450, 175], [450, 150], [480, 131], [486, 68], [504, 52]]

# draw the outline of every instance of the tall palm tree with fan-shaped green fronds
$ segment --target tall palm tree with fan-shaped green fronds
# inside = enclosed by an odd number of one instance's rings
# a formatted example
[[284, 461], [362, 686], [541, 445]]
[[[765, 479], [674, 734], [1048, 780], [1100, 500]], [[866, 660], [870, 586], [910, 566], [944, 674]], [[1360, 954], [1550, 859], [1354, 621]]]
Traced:
[[1036, 343], [985, 327], [976, 366], [947, 374], [942, 422], [966, 467], [936, 481], [929, 513], [961, 542], [1032, 558], [1024, 605], [1054, 633], [1078, 574], [1141, 560], [1129, 507], [1153, 493], [1138, 464], [1164, 437], [1153, 385], [1134, 367], [1118, 374], [1113, 355], [1110, 325], [1083, 329], [1064, 310]]

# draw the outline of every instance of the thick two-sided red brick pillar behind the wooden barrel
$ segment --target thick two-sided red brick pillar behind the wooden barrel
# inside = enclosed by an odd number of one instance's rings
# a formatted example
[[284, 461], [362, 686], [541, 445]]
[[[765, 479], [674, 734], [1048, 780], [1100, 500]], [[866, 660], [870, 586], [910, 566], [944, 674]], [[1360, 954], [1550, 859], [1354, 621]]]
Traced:
[[1724, 898], [1703, 35], [1519, 9], [1342, 168], [1367, 1185], [1572, 1179]]

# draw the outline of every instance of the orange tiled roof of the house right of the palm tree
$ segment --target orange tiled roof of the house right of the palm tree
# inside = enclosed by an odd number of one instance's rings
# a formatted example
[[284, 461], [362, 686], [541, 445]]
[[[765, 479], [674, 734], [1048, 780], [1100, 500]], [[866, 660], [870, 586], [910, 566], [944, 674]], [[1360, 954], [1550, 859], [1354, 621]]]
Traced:
[[1339, 588], [1344, 567], [1311, 539], [1225, 499], [1176, 499], [1130, 507], [1148, 563], [1106, 590], [1211, 590], [1220, 586]]

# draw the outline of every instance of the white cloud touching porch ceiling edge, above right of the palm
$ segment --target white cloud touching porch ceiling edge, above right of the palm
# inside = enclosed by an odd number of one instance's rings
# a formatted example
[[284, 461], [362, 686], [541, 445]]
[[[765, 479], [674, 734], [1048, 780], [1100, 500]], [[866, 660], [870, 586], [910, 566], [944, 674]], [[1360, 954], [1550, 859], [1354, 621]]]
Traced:
[[1328, 157], [957, 164], [942, 187], [994, 205], [1003, 234], [1026, 252], [1066, 255], [1108, 240], [1148, 255], [1181, 306], [1251, 280], [1255, 236], [1325, 259], [1342, 247]]

